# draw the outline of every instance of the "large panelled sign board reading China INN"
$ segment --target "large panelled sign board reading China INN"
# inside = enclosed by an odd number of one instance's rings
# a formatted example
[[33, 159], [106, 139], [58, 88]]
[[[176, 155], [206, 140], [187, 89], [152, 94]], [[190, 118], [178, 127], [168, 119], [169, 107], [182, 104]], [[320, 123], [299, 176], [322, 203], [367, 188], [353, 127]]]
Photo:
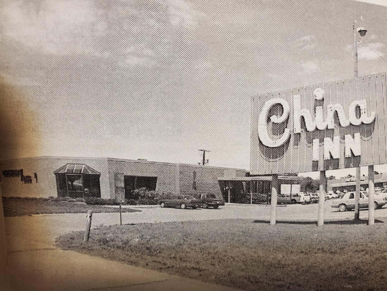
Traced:
[[387, 163], [386, 74], [255, 96], [250, 173]]

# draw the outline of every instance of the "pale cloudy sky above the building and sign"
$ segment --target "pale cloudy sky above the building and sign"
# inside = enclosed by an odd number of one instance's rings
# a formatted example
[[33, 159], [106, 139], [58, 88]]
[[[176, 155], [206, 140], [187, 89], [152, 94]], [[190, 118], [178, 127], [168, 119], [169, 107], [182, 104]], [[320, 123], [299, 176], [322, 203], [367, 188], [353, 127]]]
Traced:
[[208, 149], [248, 170], [250, 98], [352, 78], [354, 20], [360, 75], [387, 71], [387, 7], [367, 2], [0, 0], [0, 133], [21, 137], [0, 158]]

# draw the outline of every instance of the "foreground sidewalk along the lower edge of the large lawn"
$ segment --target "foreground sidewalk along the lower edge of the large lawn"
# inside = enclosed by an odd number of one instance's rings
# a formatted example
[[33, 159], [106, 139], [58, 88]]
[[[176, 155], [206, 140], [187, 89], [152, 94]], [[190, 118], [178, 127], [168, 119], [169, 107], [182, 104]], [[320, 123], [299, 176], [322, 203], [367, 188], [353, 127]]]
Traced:
[[236, 290], [7, 236], [11, 290]]

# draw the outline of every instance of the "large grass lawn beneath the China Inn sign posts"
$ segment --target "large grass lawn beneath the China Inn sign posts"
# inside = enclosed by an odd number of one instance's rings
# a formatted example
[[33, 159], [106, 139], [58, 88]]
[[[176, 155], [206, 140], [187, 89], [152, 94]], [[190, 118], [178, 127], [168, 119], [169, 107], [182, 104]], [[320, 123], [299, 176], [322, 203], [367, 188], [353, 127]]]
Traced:
[[144, 268], [247, 290], [385, 290], [387, 224], [251, 220], [99, 227], [57, 245]]

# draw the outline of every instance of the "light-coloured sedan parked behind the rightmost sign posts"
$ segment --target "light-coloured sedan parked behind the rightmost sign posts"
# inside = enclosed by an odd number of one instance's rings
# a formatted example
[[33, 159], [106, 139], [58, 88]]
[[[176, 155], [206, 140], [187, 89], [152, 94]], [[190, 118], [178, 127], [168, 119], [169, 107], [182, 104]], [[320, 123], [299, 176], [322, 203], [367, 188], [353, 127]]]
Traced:
[[[341, 199], [332, 202], [333, 208], [339, 208], [339, 211], [347, 211], [355, 208], [355, 192], [347, 192]], [[374, 207], [375, 209], [382, 208], [387, 204], [385, 197], [378, 197], [375, 195]], [[368, 193], [366, 191], [360, 192], [359, 208], [368, 208]]]

